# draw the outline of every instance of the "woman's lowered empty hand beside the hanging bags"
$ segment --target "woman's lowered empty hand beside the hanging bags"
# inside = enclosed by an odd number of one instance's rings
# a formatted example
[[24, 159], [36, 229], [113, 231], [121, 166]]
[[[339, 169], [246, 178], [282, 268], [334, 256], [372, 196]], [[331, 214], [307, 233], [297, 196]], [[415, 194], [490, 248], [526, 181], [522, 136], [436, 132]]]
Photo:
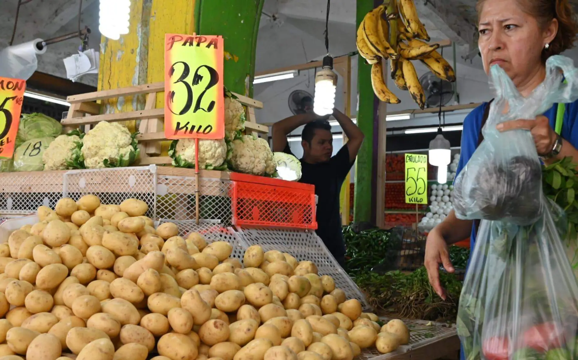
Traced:
[[442, 237], [442, 234], [440, 234], [436, 228], [433, 228], [433, 230], [429, 232], [427, 241], [425, 241], [424, 265], [428, 271], [429, 283], [433, 287], [433, 290], [435, 290], [440, 298], [445, 300], [446, 289], [444, 289], [439, 282], [439, 264], [443, 264], [447, 272], [454, 272], [447, 243]]

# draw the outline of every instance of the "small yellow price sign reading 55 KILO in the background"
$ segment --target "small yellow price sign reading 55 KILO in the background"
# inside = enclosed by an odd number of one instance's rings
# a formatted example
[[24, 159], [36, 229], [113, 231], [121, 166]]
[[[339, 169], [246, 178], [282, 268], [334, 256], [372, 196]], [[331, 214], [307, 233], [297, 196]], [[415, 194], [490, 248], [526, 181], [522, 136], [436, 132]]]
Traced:
[[428, 156], [405, 154], [405, 202], [428, 203]]

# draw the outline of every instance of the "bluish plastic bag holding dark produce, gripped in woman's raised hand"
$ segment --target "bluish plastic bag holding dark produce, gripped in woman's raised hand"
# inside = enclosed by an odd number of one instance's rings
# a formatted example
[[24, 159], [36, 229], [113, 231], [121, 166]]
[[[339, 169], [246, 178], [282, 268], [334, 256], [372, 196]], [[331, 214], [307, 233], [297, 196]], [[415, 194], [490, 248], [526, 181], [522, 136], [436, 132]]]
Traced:
[[[578, 99], [578, 70], [560, 55], [546, 62], [546, 78], [527, 98], [499, 66], [490, 70], [496, 97], [491, 104], [484, 141], [454, 182], [454, 211], [460, 219], [503, 220], [532, 224], [541, 215], [542, 168], [528, 130], [499, 132], [499, 123], [535, 119], [554, 103]], [[562, 82], [565, 77], [567, 83]], [[504, 110], [507, 108], [507, 111]]]

